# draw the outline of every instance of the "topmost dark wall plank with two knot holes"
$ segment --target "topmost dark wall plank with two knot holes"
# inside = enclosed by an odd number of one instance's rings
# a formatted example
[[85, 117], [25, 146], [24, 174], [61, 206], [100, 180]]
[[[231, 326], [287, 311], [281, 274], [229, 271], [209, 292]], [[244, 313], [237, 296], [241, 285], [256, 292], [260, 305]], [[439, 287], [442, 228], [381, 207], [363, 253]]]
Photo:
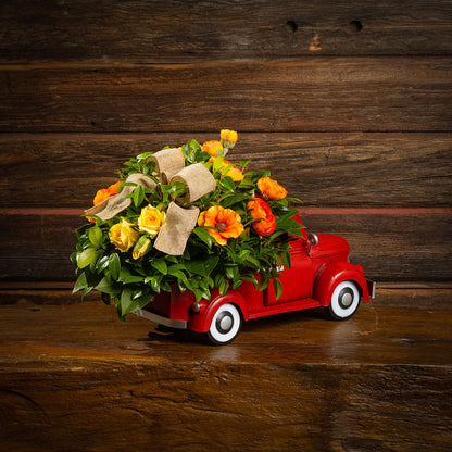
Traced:
[[297, 0], [0, 4], [3, 62], [237, 61], [307, 54], [450, 54], [451, 7]]

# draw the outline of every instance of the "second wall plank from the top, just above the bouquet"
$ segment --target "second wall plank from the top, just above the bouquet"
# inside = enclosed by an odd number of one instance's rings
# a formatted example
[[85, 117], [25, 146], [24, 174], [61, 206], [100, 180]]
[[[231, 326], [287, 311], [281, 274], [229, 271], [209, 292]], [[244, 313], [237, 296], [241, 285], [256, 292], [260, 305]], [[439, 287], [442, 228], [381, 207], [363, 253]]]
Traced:
[[5, 66], [0, 131], [448, 131], [451, 74], [449, 58], [405, 56]]

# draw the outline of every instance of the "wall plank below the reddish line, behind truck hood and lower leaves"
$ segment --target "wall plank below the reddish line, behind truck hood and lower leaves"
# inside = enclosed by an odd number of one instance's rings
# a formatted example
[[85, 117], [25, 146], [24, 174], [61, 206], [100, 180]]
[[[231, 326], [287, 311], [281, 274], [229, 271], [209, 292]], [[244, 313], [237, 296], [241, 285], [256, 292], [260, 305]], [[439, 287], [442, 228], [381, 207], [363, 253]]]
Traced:
[[[335, 214], [302, 212], [311, 233], [337, 234], [351, 262], [377, 281], [452, 280], [451, 214]], [[70, 254], [84, 219], [71, 215], [0, 215], [0, 280], [75, 280]]]

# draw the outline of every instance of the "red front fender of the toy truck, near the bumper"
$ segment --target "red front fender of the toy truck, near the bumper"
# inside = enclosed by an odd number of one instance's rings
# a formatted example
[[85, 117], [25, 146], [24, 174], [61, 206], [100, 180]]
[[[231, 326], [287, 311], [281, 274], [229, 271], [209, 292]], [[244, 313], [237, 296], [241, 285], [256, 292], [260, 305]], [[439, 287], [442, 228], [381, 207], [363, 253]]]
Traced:
[[335, 288], [346, 280], [356, 282], [364, 302], [367, 303], [368, 289], [363, 267], [348, 262], [331, 262], [321, 268], [314, 281], [313, 299], [322, 306], [328, 306]]

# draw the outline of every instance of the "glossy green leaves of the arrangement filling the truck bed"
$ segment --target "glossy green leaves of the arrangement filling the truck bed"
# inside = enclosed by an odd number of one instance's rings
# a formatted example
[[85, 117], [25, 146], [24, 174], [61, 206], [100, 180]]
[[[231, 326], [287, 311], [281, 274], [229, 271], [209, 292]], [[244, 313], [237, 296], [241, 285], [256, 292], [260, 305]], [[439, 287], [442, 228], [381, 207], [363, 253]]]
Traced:
[[[95, 224], [86, 224], [77, 229], [76, 251], [71, 261], [76, 265], [78, 277], [74, 285], [74, 292], [81, 291], [84, 297], [91, 290], [101, 292], [102, 300], [113, 302], [121, 319], [127, 314], [141, 309], [162, 291], [171, 291], [177, 285], [181, 291], [190, 290], [196, 299], [209, 300], [216, 287], [221, 294], [228, 290], [238, 289], [243, 281], [249, 281], [260, 290], [273, 284], [275, 294], [281, 294], [281, 284], [277, 279], [276, 271], [281, 263], [290, 267], [290, 241], [293, 236], [301, 236], [300, 224], [292, 219], [297, 210], [289, 208], [289, 202], [297, 199], [268, 200], [267, 203], [276, 217], [276, 228], [269, 236], [261, 237], [252, 228], [255, 222], [247, 210], [247, 203], [259, 194], [256, 183], [261, 177], [269, 176], [269, 172], [248, 172], [241, 180], [234, 180], [228, 174], [234, 164], [217, 156], [212, 163], [210, 155], [202, 151], [196, 140], [190, 140], [181, 147], [186, 165], [203, 163], [216, 181], [216, 188], [205, 194], [192, 205], [201, 212], [213, 205], [231, 209], [240, 215], [244, 231], [236, 238], [228, 238], [227, 244], [221, 246], [210, 234], [215, 228], [197, 226], [190, 235], [186, 250], [181, 256], [162, 253], [153, 247], [155, 237], [138, 230], [135, 224], [141, 210], [152, 205], [165, 212], [172, 201], [185, 194], [187, 187], [180, 181], [163, 184], [154, 178], [154, 164], [146, 162], [151, 152], [146, 152], [124, 163], [117, 173], [124, 181], [133, 173], [141, 173], [158, 183], [154, 190], [124, 183], [133, 186], [128, 197], [131, 204], [118, 216], [102, 222], [93, 217]], [[250, 160], [240, 162], [244, 168]], [[133, 228], [139, 233], [135, 247], [121, 251], [110, 239], [110, 229], [126, 218]], [[212, 230], [211, 230], [212, 233]], [[142, 251], [145, 250], [145, 251]], [[142, 251], [138, 258], [135, 253]]]

